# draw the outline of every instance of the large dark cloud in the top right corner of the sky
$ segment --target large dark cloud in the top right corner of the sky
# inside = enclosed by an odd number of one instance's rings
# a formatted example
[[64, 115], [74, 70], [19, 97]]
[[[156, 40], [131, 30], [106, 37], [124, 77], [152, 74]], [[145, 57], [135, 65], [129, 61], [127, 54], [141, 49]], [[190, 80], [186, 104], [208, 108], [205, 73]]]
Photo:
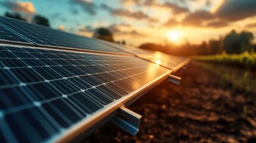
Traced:
[[255, 0], [226, 0], [215, 11], [214, 15], [227, 21], [242, 20], [256, 15]]

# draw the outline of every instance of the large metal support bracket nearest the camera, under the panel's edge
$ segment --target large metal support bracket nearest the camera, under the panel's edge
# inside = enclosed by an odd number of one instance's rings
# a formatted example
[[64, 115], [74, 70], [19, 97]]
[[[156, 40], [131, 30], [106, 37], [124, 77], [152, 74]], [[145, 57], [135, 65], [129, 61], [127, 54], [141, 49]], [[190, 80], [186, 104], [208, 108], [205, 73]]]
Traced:
[[136, 135], [138, 129], [140, 128], [141, 116], [133, 111], [120, 107], [119, 113], [113, 117], [112, 123], [119, 126], [119, 128], [124, 129], [127, 133], [131, 135]]

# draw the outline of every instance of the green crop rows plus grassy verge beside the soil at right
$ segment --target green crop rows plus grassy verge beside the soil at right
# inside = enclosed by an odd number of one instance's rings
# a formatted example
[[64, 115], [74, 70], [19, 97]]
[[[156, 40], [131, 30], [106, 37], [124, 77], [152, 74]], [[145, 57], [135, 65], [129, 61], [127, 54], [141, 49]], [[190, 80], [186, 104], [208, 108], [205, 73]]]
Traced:
[[222, 79], [232, 83], [232, 88], [255, 92], [255, 52], [243, 52], [242, 54], [226, 54], [224, 52], [217, 55], [193, 56], [192, 59], [193, 64], [210, 70]]

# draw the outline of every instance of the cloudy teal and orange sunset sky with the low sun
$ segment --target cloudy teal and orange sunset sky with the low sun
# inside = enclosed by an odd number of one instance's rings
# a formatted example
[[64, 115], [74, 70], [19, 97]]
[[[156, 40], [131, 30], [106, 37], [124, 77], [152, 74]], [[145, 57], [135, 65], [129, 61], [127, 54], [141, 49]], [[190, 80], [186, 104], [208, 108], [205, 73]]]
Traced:
[[0, 13], [40, 14], [51, 27], [91, 37], [107, 27], [115, 41], [176, 44], [218, 39], [232, 29], [256, 36], [255, 0], [0, 0]]

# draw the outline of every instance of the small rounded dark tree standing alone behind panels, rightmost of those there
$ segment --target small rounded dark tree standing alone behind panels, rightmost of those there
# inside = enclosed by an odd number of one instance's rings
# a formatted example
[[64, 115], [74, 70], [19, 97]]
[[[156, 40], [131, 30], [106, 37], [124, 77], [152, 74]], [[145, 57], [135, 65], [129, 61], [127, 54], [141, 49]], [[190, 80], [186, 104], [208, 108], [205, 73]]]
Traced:
[[113, 39], [112, 32], [110, 32], [109, 29], [106, 29], [106, 28], [103, 28], [103, 27], [97, 29], [94, 32], [93, 38], [101, 39], [101, 40], [104, 40], [104, 41], [115, 42], [114, 39]]

